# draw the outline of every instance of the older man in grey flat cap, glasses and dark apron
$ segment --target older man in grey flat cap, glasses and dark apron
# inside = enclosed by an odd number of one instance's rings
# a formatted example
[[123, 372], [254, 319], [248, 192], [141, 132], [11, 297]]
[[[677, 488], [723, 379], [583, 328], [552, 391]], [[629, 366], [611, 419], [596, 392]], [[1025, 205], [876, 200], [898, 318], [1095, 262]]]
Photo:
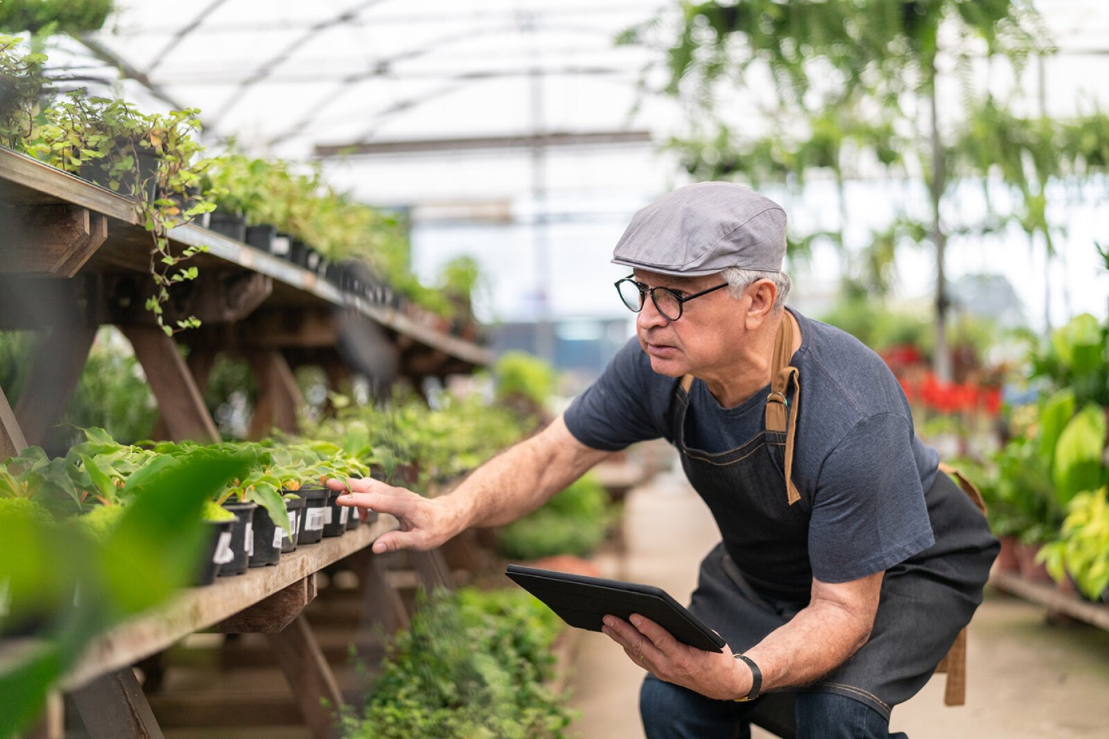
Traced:
[[663, 437], [720, 526], [690, 608], [729, 647], [606, 617], [648, 671], [648, 737], [746, 737], [752, 720], [783, 736], [888, 737], [893, 706], [981, 602], [997, 542], [915, 435], [878, 357], [783, 307], [784, 255], [784, 212], [739, 185], [690, 185], [637, 213], [613, 254], [632, 270], [617, 289], [637, 340], [450, 495], [356, 483], [347, 504], [401, 521], [374, 550], [508, 523], [612, 451]]

